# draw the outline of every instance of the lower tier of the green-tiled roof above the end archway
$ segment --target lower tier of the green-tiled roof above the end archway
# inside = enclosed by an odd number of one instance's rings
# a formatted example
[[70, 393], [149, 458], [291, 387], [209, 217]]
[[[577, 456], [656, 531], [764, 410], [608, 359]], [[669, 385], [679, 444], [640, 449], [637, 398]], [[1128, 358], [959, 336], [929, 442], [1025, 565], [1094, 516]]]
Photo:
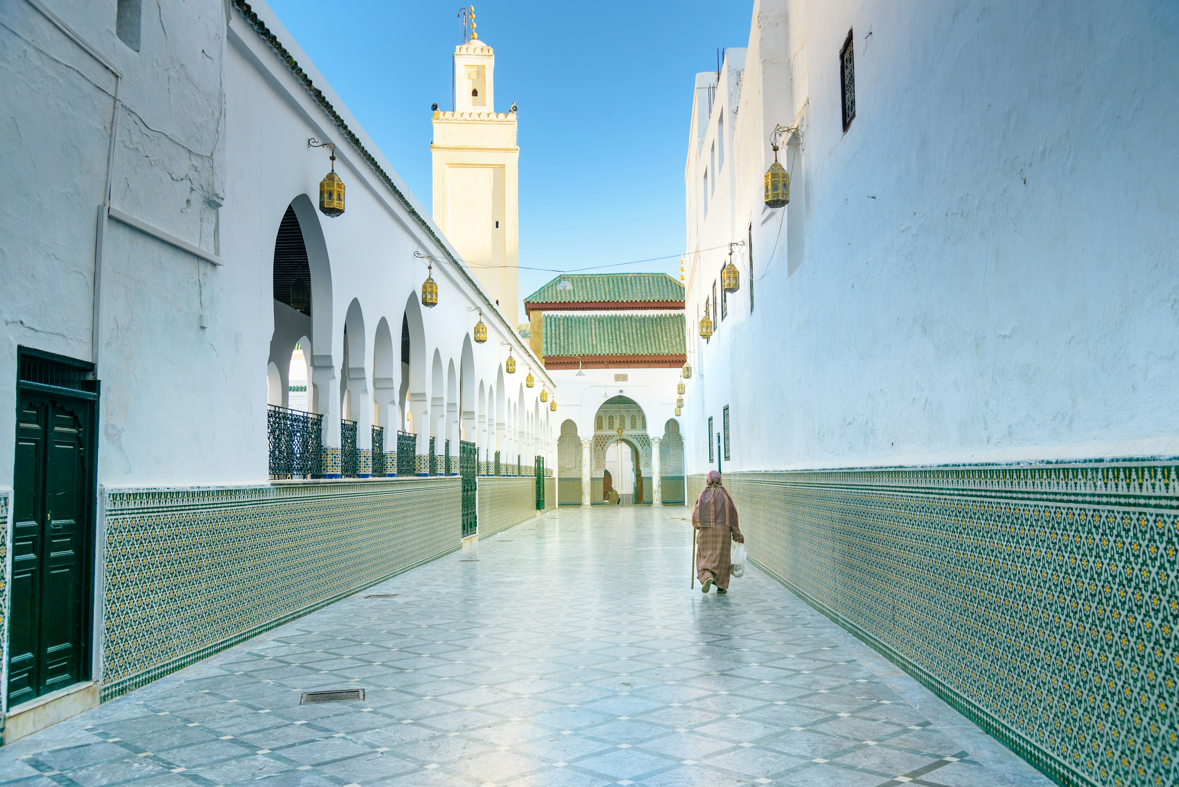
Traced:
[[546, 356], [684, 355], [683, 314], [546, 314]]

